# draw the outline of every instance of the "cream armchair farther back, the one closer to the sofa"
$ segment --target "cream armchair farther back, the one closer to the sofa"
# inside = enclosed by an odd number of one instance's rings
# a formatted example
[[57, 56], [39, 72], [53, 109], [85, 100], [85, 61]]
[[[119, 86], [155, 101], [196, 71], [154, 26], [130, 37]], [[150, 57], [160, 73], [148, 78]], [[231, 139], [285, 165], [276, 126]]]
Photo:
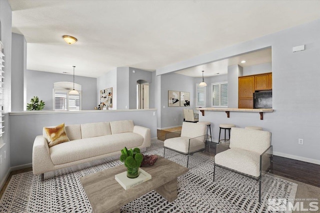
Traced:
[[206, 126], [204, 124], [183, 122], [181, 134], [168, 133], [165, 136], [163, 158], [165, 149], [187, 155], [186, 167], [188, 167], [189, 155], [205, 149], [205, 130]]

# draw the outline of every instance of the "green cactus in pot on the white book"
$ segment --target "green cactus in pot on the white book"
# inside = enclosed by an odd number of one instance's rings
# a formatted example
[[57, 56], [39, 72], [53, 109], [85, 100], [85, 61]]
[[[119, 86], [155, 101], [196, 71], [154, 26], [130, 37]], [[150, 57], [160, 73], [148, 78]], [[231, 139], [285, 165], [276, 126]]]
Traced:
[[126, 167], [126, 177], [136, 178], [139, 176], [139, 167], [143, 160], [143, 155], [140, 153], [139, 148], [124, 149], [121, 150], [120, 161], [124, 163]]

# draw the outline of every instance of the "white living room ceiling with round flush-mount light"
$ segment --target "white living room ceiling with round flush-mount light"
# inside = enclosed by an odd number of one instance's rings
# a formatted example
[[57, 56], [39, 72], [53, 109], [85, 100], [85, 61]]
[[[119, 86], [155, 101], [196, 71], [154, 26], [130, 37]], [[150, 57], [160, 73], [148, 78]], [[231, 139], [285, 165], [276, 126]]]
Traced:
[[[27, 41], [27, 69], [72, 74], [75, 65], [76, 75], [89, 77], [101, 76], [115, 67], [154, 71], [320, 18], [320, 0], [9, 3], [12, 32], [23, 34]], [[62, 35], [78, 41], [68, 45]]]

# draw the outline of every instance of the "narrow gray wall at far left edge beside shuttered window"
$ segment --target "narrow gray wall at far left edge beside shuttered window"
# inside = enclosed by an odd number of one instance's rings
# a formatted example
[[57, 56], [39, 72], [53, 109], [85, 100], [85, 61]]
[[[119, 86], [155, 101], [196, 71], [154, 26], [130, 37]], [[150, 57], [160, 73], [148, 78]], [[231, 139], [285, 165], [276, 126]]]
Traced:
[[[12, 11], [6, 0], [0, 0], [0, 21], [1, 21], [1, 41], [3, 43], [4, 62], [4, 84], [3, 84], [3, 120], [4, 134], [3, 142], [5, 145], [0, 149], [2, 162], [0, 165], [0, 188], [3, 186], [5, 178], [10, 171], [10, 128], [8, 112], [11, 111], [11, 22]], [[4, 159], [4, 151], [6, 158]]]

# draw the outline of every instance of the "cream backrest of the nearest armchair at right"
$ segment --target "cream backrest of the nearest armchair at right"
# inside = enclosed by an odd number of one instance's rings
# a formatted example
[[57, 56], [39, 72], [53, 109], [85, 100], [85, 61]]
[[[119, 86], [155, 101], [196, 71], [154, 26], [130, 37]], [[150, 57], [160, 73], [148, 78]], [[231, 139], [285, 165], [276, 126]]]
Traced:
[[262, 130], [231, 128], [230, 148], [262, 154], [271, 145], [271, 133]]

